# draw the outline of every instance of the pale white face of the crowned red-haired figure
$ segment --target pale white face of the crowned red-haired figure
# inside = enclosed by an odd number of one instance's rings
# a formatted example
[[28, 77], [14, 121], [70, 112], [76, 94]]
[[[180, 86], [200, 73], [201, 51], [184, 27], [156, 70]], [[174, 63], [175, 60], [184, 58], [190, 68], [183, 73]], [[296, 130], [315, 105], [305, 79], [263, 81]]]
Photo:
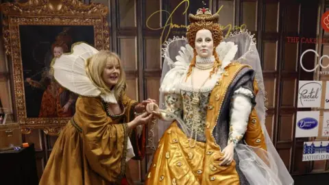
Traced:
[[212, 56], [214, 41], [208, 29], [200, 29], [195, 36], [195, 50], [200, 58]]

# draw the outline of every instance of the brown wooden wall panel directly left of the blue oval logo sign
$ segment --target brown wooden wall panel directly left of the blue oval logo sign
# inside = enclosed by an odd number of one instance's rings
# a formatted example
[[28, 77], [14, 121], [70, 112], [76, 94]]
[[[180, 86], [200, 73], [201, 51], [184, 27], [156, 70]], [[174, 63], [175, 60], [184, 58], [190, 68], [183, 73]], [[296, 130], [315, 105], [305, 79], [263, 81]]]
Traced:
[[281, 115], [279, 122], [279, 140], [293, 140], [294, 114]]

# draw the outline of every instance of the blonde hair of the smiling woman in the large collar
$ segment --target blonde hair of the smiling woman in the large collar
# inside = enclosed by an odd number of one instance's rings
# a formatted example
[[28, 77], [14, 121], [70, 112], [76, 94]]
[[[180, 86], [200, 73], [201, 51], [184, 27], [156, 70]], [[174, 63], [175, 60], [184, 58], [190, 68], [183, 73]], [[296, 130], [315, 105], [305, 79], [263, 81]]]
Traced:
[[[119, 63], [120, 77], [118, 83], [110, 89], [103, 80], [103, 71], [106, 67], [106, 62], [115, 62]], [[93, 82], [101, 93], [110, 93], [111, 90], [114, 90], [114, 96], [117, 100], [121, 97], [121, 93], [125, 90], [125, 71], [123, 71], [121, 60], [116, 53], [110, 51], [99, 51], [97, 54], [91, 56], [86, 60], [86, 73], [89, 79]]]

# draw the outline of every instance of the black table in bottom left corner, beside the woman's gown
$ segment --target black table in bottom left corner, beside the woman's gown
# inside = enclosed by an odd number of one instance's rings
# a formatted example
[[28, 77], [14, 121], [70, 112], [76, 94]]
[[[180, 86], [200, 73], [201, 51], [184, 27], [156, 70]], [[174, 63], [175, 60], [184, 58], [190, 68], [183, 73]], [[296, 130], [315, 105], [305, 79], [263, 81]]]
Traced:
[[19, 151], [0, 151], [0, 184], [38, 184], [34, 143]]

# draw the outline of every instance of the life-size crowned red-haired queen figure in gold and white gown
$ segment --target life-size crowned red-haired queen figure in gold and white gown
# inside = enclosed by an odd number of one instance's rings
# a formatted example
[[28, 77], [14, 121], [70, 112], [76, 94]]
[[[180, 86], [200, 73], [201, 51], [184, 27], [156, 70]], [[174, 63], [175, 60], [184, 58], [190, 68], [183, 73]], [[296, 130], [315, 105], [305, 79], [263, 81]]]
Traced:
[[265, 128], [254, 39], [223, 40], [219, 15], [205, 8], [189, 21], [188, 43], [166, 43], [160, 108], [147, 107], [162, 137], [146, 184], [293, 184]]

